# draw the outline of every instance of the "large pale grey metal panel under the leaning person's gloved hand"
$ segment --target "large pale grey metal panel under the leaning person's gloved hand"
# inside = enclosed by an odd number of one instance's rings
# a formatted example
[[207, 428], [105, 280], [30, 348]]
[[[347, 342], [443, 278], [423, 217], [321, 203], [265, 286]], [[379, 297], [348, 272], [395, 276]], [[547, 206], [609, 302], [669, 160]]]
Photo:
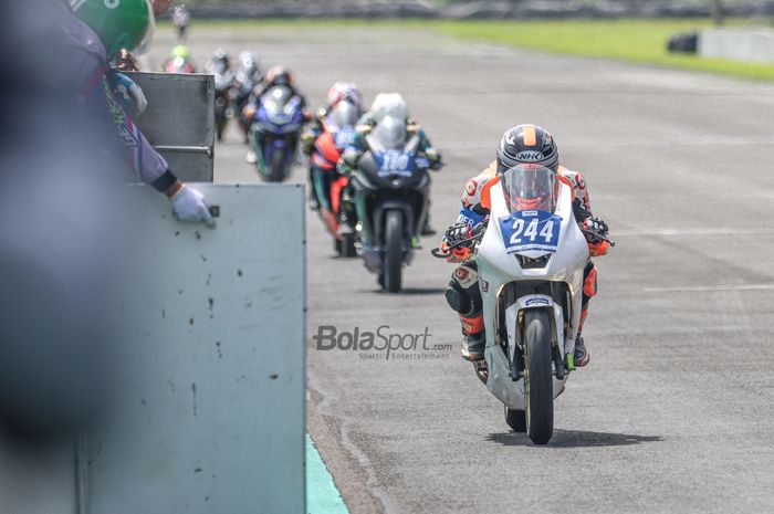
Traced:
[[81, 449], [84, 512], [302, 514], [303, 189], [194, 187], [219, 206], [217, 229], [133, 191], [145, 243], [124, 316], [135, 358], [116, 413]]

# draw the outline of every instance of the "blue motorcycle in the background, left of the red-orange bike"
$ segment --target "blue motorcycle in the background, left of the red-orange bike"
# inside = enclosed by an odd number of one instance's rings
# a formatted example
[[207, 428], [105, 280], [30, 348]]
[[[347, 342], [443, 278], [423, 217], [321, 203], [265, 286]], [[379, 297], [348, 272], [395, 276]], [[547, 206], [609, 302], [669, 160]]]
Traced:
[[290, 87], [274, 86], [259, 98], [251, 128], [258, 172], [270, 182], [287, 178], [304, 125], [304, 102]]

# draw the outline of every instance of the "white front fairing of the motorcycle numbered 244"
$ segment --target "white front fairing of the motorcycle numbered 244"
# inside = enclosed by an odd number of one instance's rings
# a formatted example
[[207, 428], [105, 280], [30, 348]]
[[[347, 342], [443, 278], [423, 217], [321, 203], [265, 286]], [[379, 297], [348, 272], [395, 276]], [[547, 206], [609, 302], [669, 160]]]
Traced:
[[[516, 333], [520, 313], [527, 308], [550, 311], [553, 321], [552, 333], [555, 343], [563, 349], [562, 356], [575, 349], [575, 337], [580, 322], [583, 295], [583, 271], [589, 253], [586, 240], [577, 227], [573, 214], [573, 191], [565, 183], [559, 185], [557, 206], [554, 212], [561, 219], [561, 229], [556, 251], [547, 258], [543, 268], [522, 268], [515, 253], [509, 253], [503, 238], [500, 219], [510, 216], [501, 186], [491, 189], [490, 222], [479, 245], [475, 262], [479, 269], [479, 285], [483, 300], [484, 327], [487, 331], [485, 359], [489, 369], [487, 387], [503, 403], [513, 409], [524, 409], [524, 381], [512, 374], [512, 363], [521, 335]], [[522, 252], [531, 259], [537, 259], [548, 252], [531, 250]], [[566, 284], [571, 295], [571, 313], [565, 313], [551, 294], [529, 293], [502, 305], [505, 319], [500, 319], [503, 292], [514, 282]], [[543, 293], [543, 291], [541, 291]], [[505, 334], [500, 327], [505, 326]], [[508, 348], [508, 355], [502, 346]], [[515, 375], [515, 377], [514, 377]], [[514, 380], [517, 378], [517, 380]], [[564, 390], [564, 379], [554, 377], [554, 397]]]

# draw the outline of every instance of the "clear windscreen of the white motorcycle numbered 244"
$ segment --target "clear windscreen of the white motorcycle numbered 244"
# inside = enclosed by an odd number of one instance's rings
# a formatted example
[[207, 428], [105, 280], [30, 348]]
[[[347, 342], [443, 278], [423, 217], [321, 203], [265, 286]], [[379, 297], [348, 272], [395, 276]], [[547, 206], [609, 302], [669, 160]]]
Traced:
[[541, 165], [519, 165], [500, 175], [510, 212], [556, 210], [558, 177]]

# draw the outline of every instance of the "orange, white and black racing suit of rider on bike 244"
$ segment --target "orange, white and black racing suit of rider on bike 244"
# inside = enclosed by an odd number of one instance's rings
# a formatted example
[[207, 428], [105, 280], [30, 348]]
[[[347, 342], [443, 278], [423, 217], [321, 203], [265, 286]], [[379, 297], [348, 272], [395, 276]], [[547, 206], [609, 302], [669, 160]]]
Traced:
[[[603, 238], [592, 235], [607, 233], [607, 224], [592, 214], [592, 208], [586, 189], [586, 181], [582, 174], [571, 171], [558, 166], [559, 180], [573, 189], [573, 213], [576, 222], [584, 229], [584, 235], [588, 243], [592, 256], [605, 255], [609, 249], [609, 242]], [[479, 176], [468, 180], [462, 193], [462, 210], [458, 221], [447, 231], [441, 249], [447, 250], [459, 241], [474, 240], [474, 235], [481, 234], [489, 223], [490, 189], [500, 183], [496, 172], [496, 162], [492, 162]], [[481, 291], [479, 289], [478, 268], [474, 261], [474, 243], [471, 241], [460, 248], [449, 251], [450, 262], [460, 263], [452, 273], [446, 297], [449, 305], [457, 311], [462, 324], [464, 344], [462, 356], [469, 360], [483, 359], [485, 346], [483, 306]], [[588, 316], [588, 304], [597, 293], [597, 270], [589, 259], [584, 270], [583, 303], [580, 310], [580, 325], [578, 339], [576, 340], [575, 366], [585, 366], [588, 363], [588, 353], [580, 333], [584, 322]]]

